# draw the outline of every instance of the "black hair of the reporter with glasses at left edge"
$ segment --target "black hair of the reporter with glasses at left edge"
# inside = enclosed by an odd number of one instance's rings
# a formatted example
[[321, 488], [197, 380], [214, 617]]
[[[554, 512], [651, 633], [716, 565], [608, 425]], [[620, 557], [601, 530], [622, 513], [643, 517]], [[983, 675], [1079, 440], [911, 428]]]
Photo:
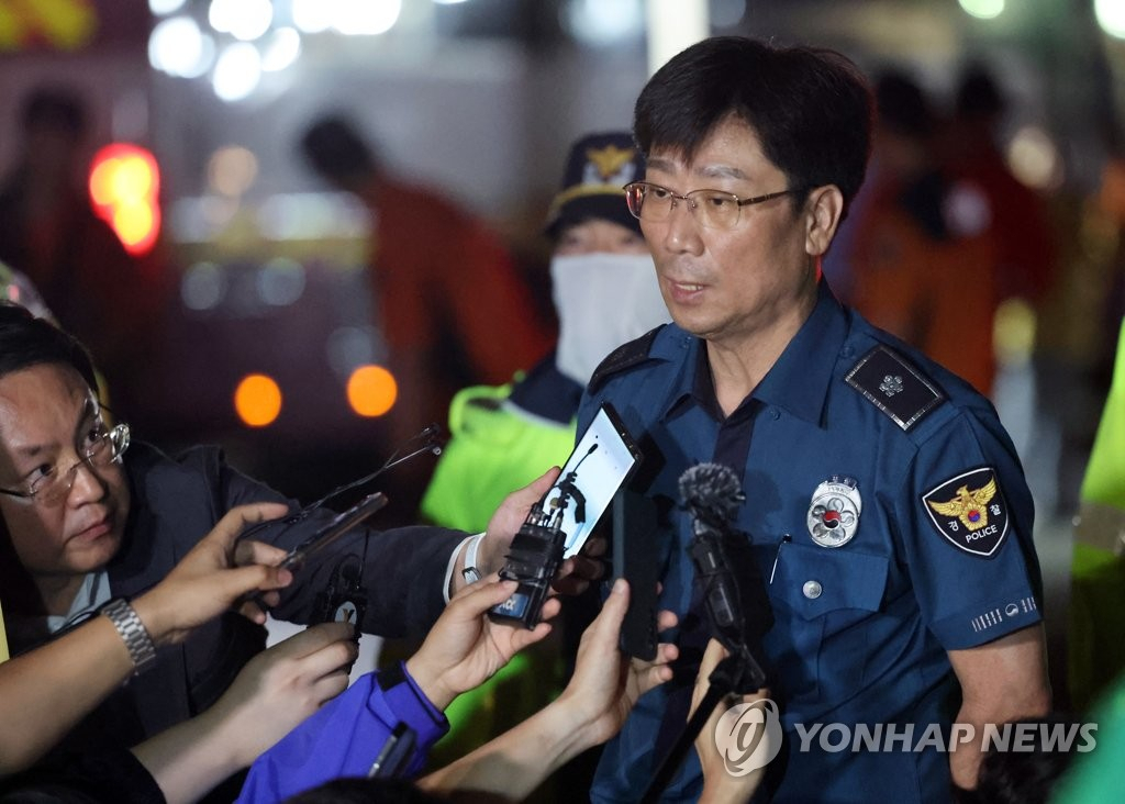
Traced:
[[0, 378], [50, 363], [74, 369], [97, 392], [93, 360], [78, 338], [19, 305], [0, 301]]

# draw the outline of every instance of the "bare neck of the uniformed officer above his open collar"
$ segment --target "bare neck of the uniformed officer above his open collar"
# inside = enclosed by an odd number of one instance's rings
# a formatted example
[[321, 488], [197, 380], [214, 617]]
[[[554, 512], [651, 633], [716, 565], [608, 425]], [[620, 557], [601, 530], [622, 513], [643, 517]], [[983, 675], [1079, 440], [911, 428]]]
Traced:
[[791, 316], [772, 320], [768, 327], [739, 337], [708, 340], [706, 356], [714, 395], [723, 415], [732, 414], [754, 392], [809, 318], [816, 304], [817, 297], [812, 293], [807, 304], [794, 308]]

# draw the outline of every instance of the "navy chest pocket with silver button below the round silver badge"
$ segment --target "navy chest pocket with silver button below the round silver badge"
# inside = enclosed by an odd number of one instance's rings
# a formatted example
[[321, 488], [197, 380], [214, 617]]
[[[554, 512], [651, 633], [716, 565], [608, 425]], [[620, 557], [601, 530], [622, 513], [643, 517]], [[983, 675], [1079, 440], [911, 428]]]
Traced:
[[863, 681], [870, 649], [864, 621], [880, 608], [888, 571], [883, 555], [781, 545], [770, 585], [775, 622], [765, 650], [791, 705], [830, 707], [837, 694]]

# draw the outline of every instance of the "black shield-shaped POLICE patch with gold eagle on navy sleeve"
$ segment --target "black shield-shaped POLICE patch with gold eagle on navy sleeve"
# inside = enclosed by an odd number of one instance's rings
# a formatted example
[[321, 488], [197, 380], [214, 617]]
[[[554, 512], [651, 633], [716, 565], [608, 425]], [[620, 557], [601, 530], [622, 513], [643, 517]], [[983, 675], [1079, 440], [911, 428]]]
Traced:
[[934, 529], [973, 555], [991, 558], [1008, 534], [1008, 506], [991, 467], [944, 480], [921, 503]]

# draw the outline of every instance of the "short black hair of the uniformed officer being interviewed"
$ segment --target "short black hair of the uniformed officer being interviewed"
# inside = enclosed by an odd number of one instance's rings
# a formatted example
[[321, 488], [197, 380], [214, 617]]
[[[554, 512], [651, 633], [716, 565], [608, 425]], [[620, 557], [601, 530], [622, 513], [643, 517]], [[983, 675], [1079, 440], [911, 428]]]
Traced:
[[863, 73], [836, 51], [717, 36], [649, 79], [633, 136], [646, 157], [659, 147], [691, 159], [734, 116], [754, 129], [790, 188], [835, 184], [846, 213], [867, 169], [873, 109]]

